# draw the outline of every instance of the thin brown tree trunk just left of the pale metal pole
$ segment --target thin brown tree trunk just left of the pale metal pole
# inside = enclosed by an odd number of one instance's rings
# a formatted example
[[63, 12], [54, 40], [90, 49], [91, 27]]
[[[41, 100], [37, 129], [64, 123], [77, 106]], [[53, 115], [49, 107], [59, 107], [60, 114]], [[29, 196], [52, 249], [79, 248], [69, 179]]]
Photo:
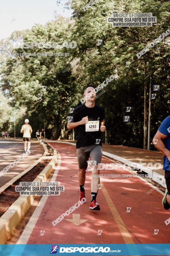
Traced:
[[146, 66], [145, 66], [145, 80], [144, 80], [144, 137], [143, 137], [143, 148], [146, 149], [146, 138], [147, 138], [147, 79], [146, 79]]

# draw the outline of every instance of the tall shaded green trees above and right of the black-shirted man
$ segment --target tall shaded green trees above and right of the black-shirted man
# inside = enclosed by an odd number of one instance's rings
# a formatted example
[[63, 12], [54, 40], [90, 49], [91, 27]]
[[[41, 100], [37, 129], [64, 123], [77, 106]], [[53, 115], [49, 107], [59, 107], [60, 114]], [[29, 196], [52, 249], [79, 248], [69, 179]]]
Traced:
[[[104, 3], [103, 3], [104, 2]], [[96, 1], [87, 11], [87, 1], [75, 0], [72, 4], [77, 20], [76, 40], [83, 54], [81, 73], [86, 84], [97, 85], [114, 74], [118, 78], [105, 87], [106, 93], [96, 103], [106, 111], [108, 142], [111, 144], [143, 147], [144, 83], [147, 84], [149, 107], [149, 79], [160, 85], [155, 101], [152, 101], [151, 138], [162, 120], [169, 114], [169, 46], [163, 40], [149, 49], [140, 59], [136, 54], [169, 27], [169, 2], [160, 1]], [[112, 12], [148, 12], [157, 16], [153, 27], [112, 27], [107, 17]], [[102, 46], [96, 46], [103, 39]], [[126, 62], [130, 67], [126, 68]], [[146, 74], [144, 72], [146, 71]], [[126, 107], [131, 112], [126, 113]], [[130, 123], [123, 122], [123, 115], [130, 115]]]

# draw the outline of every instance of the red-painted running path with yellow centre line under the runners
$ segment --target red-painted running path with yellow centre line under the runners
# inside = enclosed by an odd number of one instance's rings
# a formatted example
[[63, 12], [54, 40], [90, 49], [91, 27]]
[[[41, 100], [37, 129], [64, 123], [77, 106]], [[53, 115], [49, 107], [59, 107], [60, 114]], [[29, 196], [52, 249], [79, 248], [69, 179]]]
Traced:
[[[156, 190], [148, 195], [147, 191], [152, 187], [139, 178], [100, 179], [103, 186], [98, 191], [96, 200], [101, 210], [91, 211], [89, 204], [92, 172], [87, 172], [85, 182], [87, 202], [53, 226], [52, 221], [78, 202], [79, 184], [77, 160], [65, 167], [76, 158], [75, 146], [65, 143], [50, 144], [61, 154], [61, 166], [56, 181], [65, 186], [65, 192], [47, 198], [35, 226], [29, 227], [32, 231], [28, 233], [28, 244], [169, 243], [169, 227], [164, 221], [170, 217], [170, 212], [162, 207], [163, 195]], [[101, 162], [114, 161], [102, 157]], [[63, 168], [65, 170], [61, 172]], [[100, 170], [100, 174], [122, 175], [130, 172], [119, 168]], [[130, 212], [126, 212], [126, 207], [131, 207]], [[80, 214], [80, 218], [87, 221], [80, 225], [67, 221], [66, 219], [73, 219], [73, 214]], [[78, 215], [75, 216], [78, 218]], [[159, 230], [158, 234], [154, 234], [155, 229]], [[45, 230], [43, 236], [40, 236], [40, 230]], [[97, 235], [98, 230], [102, 230], [101, 235]]]

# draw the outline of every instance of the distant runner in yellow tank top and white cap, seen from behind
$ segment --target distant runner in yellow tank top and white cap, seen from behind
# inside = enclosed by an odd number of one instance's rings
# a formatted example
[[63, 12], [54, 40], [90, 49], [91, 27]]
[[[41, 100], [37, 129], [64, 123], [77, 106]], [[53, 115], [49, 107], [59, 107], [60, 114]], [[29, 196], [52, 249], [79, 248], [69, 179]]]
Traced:
[[30, 151], [30, 146], [31, 146], [32, 128], [31, 128], [31, 125], [29, 125], [28, 123], [29, 123], [29, 120], [25, 119], [25, 125], [23, 125], [21, 128], [21, 133], [23, 133], [23, 143], [24, 143], [25, 153]]

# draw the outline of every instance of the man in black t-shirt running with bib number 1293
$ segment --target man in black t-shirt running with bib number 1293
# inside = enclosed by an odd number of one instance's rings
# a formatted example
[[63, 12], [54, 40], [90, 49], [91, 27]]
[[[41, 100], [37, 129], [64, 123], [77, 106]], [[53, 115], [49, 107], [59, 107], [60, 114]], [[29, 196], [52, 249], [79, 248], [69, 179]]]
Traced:
[[[78, 159], [78, 181], [80, 185], [80, 201], [86, 202], [85, 198], [85, 171], [87, 169], [87, 161], [92, 163], [92, 182], [91, 182], [91, 203], [90, 210], [100, 210], [100, 206], [96, 202], [98, 192], [98, 184], [100, 178], [97, 177], [99, 170], [97, 170], [98, 163], [102, 158], [102, 143], [101, 133], [105, 132], [105, 110], [95, 105], [96, 92], [93, 86], [87, 86], [84, 90], [84, 97], [86, 103], [77, 107], [72, 113], [72, 121], [68, 122], [67, 128], [76, 128], [76, 148]], [[94, 175], [94, 177], [93, 177]], [[95, 177], [96, 176], [96, 177]], [[83, 199], [83, 200], [82, 200]]]

